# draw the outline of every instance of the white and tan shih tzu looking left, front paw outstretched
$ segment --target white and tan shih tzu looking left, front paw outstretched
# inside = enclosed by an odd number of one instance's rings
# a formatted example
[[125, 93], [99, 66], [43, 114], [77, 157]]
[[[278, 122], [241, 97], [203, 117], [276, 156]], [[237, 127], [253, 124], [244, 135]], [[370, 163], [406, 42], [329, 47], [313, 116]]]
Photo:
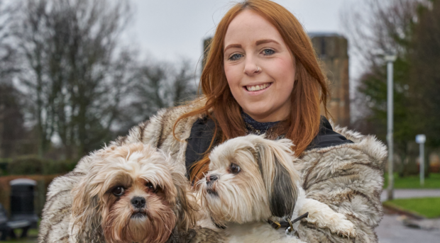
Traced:
[[[356, 237], [344, 215], [305, 197], [292, 146], [288, 139], [247, 135], [212, 150], [199, 191], [207, 215], [229, 242], [302, 242], [293, 234], [299, 225], [295, 219], [307, 213], [304, 220], [318, 227]], [[279, 222], [286, 231], [275, 230]]]

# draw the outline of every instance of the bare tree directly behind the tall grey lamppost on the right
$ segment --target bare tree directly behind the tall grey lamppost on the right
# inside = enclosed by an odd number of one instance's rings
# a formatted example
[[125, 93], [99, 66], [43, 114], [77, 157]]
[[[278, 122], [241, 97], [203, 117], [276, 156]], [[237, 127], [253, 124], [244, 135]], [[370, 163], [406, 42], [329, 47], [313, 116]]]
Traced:
[[[351, 44], [351, 55], [361, 58], [362, 75], [358, 80], [355, 101], [361, 108], [355, 122], [358, 130], [374, 133], [385, 140], [387, 128], [387, 72], [383, 55], [395, 52], [394, 72], [395, 148], [402, 164], [408, 163], [417, 123], [411, 112], [414, 89], [409, 86], [412, 69], [410, 53], [414, 26], [419, 21], [418, 9], [427, 0], [368, 0], [364, 8], [347, 8], [341, 15]], [[413, 163], [415, 164], [415, 162]], [[414, 167], [414, 166], [413, 166]], [[400, 166], [403, 171], [405, 166]], [[416, 168], [417, 169], [417, 168]]]

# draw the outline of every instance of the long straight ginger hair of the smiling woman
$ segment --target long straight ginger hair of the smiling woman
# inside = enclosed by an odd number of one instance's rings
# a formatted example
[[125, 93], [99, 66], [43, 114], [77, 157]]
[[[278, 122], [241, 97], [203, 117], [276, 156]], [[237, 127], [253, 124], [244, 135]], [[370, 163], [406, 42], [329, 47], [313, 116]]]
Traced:
[[[200, 85], [206, 103], [201, 108], [180, 116], [174, 125], [174, 129], [182, 119], [193, 115], [207, 114], [216, 124], [214, 137], [208, 151], [214, 145], [216, 139], [224, 142], [233, 137], [246, 135], [240, 106], [233, 98], [226, 80], [223, 52], [224, 38], [229, 23], [245, 9], [255, 11], [255, 13], [272, 23], [295, 58], [296, 74], [291, 96], [292, 111], [290, 111], [290, 117], [281, 123], [282, 126], [278, 126], [279, 128], [275, 131], [278, 134], [285, 134], [285, 137], [295, 143], [295, 147], [292, 147], [292, 149], [299, 156], [319, 131], [321, 103], [325, 114], [328, 113], [326, 101], [329, 97], [329, 89], [326, 78], [319, 67], [312, 43], [301, 23], [287, 9], [273, 1], [243, 1], [229, 9], [221, 19], [209, 45], [207, 61], [200, 78]], [[192, 181], [201, 178], [202, 174], [208, 170], [208, 155], [205, 154], [203, 159], [193, 164], [190, 175]]]

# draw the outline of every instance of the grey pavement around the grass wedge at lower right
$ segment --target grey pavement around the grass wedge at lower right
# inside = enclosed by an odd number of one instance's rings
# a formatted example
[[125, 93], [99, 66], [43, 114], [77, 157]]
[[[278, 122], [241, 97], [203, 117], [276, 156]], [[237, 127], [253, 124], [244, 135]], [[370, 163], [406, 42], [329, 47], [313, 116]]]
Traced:
[[[395, 198], [440, 197], [440, 189], [396, 189]], [[387, 199], [383, 191], [382, 201]], [[439, 205], [440, 207], [440, 205]], [[385, 210], [383, 220], [376, 228], [379, 243], [439, 243], [440, 219], [414, 220], [405, 216], [390, 214]]]

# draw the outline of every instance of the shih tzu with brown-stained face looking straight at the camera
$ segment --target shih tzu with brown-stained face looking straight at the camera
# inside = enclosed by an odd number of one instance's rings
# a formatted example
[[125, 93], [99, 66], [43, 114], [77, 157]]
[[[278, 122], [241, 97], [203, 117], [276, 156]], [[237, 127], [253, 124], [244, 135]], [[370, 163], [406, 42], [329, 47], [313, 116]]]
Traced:
[[70, 242], [167, 242], [197, 220], [187, 198], [185, 168], [160, 150], [136, 143], [91, 155], [72, 190]]

